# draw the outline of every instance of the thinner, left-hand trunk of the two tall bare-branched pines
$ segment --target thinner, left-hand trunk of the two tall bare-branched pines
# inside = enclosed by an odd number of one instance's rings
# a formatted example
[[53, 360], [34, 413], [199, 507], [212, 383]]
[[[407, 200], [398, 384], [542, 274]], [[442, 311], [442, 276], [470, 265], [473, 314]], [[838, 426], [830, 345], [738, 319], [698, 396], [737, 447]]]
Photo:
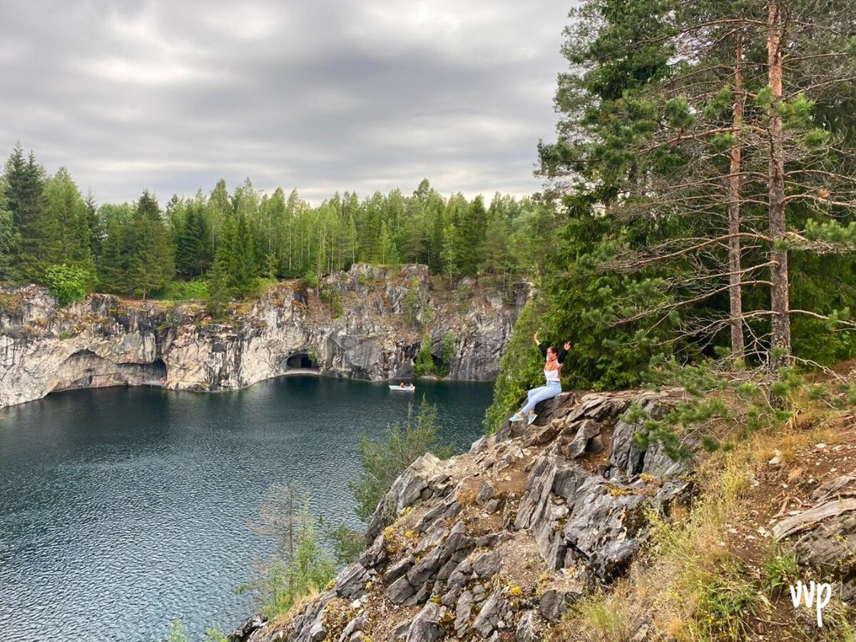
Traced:
[[728, 299], [730, 300], [731, 354], [743, 360], [743, 300], [740, 290], [740, 160], [743, 152], [740, 125], [743, 123], [743, 32], [737, 35], [734, 49], [734, 146], [731, 148], [731, 174], [728, 176]]

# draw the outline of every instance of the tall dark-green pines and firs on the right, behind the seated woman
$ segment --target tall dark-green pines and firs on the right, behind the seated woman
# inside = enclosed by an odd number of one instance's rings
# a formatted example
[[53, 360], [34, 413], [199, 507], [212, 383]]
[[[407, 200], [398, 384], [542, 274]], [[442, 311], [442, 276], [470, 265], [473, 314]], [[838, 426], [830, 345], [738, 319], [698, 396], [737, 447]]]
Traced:
[[580, 388], [664, 357], [856, 354], [856, 5], [585, 0], [570, 18], [558, 137], [538, 145], [563, 229], [488, 427], [537, 379], [538, 329], [574, 344]]

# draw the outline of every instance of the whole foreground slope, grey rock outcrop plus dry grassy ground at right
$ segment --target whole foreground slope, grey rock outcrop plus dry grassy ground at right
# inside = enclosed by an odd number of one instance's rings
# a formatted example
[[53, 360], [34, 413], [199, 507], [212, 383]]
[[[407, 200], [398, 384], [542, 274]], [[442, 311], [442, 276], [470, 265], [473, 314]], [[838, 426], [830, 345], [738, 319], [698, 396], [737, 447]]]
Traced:
[[[725, 459], [640, 448], [633, 402], [663, 419], [685, 399], [681, 389], [567, 392], [531, 426], [506, 419], [467, 454], [423, 455], [378, 505], [359, 561], [229, 642], [852, 639], [856, 414], [802, 415]], [[657, 556], [693, 523], [705, 537]], [[777, 575], [789, 555], [799, 568]], [[834, 586], [829, 637], [813, 607], [794, 609], [787, 587], [770, 585], [800, 577]], [[734, 591], [749, 597], [731, 601]], [[725, 610], [704, 610], [699, 596]], [[588, 620], [572, 608], [584, 599], [583, 609], [601, 600]]]

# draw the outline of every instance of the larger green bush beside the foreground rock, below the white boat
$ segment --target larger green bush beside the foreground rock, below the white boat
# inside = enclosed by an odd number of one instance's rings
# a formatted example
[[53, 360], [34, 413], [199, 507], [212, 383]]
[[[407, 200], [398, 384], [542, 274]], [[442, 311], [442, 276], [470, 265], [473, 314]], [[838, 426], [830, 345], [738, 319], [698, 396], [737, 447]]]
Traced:
[[452, 455], [450, 446], [440, 446], [437, 442], [437, 407], [425, 400], [419, 405], [415, 421], [413, 406], [409, 407], [403, 428], [397, 424], [389, 426], [380, 441], [363, 436], [360, 440], [360, 481], [348, 484], [354, 493], [357, 502], [354, 510], [360, 519], [372, 517], [395, 478], [429, 451], [441, 459]]

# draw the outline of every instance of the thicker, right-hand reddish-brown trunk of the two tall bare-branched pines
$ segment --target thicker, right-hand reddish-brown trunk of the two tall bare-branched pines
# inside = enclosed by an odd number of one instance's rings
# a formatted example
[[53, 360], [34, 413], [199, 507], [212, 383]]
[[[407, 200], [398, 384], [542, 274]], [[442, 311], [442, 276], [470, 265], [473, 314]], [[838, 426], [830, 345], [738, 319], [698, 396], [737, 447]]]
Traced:
[[770, 193], [770, 311], [772, 314], [771, 349], [782, 353], [771, 360], [780, 366], [790, 360], [791, 323], [788, 301], [788, 250], [785, 241], [785, 160], [782, 149], [782, 116], [778, 106], [782, 102], [782, 39], [785, 30], [782, 0], [770, 0], [768, 5], [767, 62], [773, 104], [770, 108], [770, 167], [768, 187]]

